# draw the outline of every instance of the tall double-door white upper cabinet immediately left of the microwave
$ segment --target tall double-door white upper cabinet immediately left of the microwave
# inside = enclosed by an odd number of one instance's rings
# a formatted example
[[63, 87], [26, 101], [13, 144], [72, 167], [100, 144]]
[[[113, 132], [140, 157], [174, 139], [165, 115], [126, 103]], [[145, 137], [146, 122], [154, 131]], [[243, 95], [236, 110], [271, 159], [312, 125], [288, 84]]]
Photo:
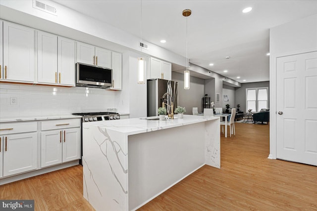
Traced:
[[75, 86], [75, 41], [38, 31], [38, 83]]

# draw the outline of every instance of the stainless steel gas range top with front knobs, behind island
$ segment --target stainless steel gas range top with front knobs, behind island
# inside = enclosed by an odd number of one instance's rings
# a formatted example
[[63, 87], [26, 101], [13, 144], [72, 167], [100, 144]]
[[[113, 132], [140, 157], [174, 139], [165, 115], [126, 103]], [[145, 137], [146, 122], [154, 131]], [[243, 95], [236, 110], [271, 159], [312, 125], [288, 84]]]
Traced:
[[89, 113], [74, 113], [73, 115], [82, 116], [82, 122], [95, 122], [106, 120], [119, 120], [120, 116], [114, 112], [89, 112]]

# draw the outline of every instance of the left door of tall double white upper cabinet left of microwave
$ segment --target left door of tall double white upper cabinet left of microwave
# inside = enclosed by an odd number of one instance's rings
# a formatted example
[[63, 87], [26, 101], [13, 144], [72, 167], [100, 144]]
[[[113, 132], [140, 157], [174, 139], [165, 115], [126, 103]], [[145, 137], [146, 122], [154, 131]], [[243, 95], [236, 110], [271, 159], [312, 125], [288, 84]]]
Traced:
[[38, 31], [38, 83], [57, 83], [57, 36]]

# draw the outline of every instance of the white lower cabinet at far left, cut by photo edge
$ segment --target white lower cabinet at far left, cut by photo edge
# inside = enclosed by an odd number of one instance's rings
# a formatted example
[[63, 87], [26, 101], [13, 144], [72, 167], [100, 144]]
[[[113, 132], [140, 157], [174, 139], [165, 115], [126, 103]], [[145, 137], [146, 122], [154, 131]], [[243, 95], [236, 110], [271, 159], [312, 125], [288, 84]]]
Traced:
[[37, 169], [37, 123], [0, 125], [0, 177]]

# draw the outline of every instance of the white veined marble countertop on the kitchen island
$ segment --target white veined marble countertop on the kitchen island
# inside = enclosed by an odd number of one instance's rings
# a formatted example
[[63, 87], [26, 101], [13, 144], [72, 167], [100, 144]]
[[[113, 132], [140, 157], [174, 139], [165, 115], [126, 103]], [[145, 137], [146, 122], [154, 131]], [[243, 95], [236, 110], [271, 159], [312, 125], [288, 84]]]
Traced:
[[[155, 117], [153, 117], [155, 118]], [[158, 117], [157, 117], [158, 118]], [[123, 120], [111, 120], [101, 122], [83, 123], [85, 126], [104, 127], [116, 132], [124, 133], [125, 135], [133, 135], [143, 132], [151, 132], [160, 129], [167, 129], [171, 127], [180, 127], [184, 125], [202, 123], [211, 120], [219, 120], [219, 117], [214, 116], [197, 116], [197, 115], [184, 115], [183, 119], [175, 117], [175, 119], [168, 119], [166, 121], [159, 120], [144, 120], [144, 118], [132, 118]]]

